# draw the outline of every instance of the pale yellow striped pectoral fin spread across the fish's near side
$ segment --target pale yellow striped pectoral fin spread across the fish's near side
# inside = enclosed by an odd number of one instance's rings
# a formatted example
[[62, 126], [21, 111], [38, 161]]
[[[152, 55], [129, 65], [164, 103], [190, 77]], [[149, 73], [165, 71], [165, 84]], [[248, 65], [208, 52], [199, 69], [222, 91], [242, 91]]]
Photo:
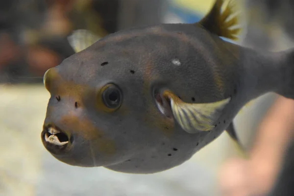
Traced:
[[165, 91], [164, 97], [171, 102], [174, 119], [188, 133], [212, 130], [221, 116], [222, 109], [231, 100], [226, 98], [211, 103], [186, 103], [171, 91]]

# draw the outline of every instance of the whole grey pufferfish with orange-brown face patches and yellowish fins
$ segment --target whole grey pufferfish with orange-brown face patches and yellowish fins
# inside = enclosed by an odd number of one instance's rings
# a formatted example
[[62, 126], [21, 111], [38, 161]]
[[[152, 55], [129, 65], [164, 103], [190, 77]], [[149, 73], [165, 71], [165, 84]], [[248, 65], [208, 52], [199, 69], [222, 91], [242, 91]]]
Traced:
[[247, 102], [267, 92], [294, 98], [294, 52], [221, 39], [238, 38], [234, 25], [234, 1], [216, 0], [195, 24], [135, 27], [98, 41], [73, 33], [76, 53], [44, 75], [44, 146], [73, 166], [154, 173], [224, 130], [238, 141], [232, 121]]

